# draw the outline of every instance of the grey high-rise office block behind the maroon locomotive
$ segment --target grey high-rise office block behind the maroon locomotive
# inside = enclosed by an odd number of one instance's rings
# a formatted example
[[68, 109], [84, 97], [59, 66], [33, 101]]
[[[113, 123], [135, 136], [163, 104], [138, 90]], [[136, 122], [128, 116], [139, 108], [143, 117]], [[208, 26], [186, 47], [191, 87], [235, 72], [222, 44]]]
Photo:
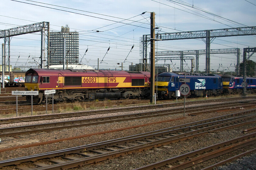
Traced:
[[65, 65], [78, 64], [78, 60], [79, 33], [69, 32], [68, 25], [62, 26], [61, 32], [50, 32], [49, 65], [63, 65], [63, 61]]

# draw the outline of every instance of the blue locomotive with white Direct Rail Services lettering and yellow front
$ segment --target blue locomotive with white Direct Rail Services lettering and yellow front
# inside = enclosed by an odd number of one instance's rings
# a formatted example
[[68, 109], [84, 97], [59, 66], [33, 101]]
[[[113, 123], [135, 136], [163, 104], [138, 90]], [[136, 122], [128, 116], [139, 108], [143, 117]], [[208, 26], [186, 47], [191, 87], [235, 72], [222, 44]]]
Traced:
[[[179, 90], [181, 82], [179, 80], [185, 78], [184, 75], [176, 73], [160, 73], [155, 79], [155, 90], [158, 98], [175, 99], [176, 90]], [[222, 79], [217, 74], [208, 74], [207, 76], [186, 75], [190, 79], [190, 93], [188, 96], [211, 96], [220, 95], [222, 93]]]

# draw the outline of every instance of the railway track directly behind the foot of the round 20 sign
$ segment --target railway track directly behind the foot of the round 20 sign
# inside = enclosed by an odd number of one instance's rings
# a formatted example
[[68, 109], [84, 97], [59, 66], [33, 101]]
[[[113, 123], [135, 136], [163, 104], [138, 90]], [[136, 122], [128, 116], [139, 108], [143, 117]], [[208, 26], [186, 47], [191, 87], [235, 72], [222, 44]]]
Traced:
[[[225, 104], [215, 104], [215, 105], [204, 105], [204, 106], [196, 106], [196, 107], [187, 107], [187, 112], [191, 114], [198, 114], [198, 112], [208, 113], [211, 111], [219, 111], [223, 109], [228, 109], [230, 107], [236, 107], [240, 109], [241, 107], [254, 107], [255, 108], [256, 101], [249, 102], [249, 103], [241, 103], [241, 102], [229, 102]], [[137, 114], [126, 114], [126, 115], [118, 115], [118, 116], [109, 116], [109, 117], [98, 117], [98, 118], [91, 118], [91, 119], [79, 119], [75, 121], [60, 121], [60, 122], [53, 122], [53, 123], [45, 123], [45, 124], [35, 124], [35, 125], [27, 125], [27, 126], [19, 126], [19, 127], [7, 127], [0, 129], [0, 138], [5, 136], [15, 136], [21, 134], [28, 134], [28, 133], [37, 133], [37, 132], [45, 132], [45, 131], [52, 131], [64, 128], [71, 128], [71, 127], [80, 127], [80, 126], [90, 126], [96, 124], [105, 124], [111, 122], [118, 122], [118, 121], [129, 121], [134, 119], [142, 119], [142, 118], [149, 118], [149, 117], [158, 117], [170, 114], [182, 114], [183, 108], [178, 109], [166, 109], [166, 110], [158, 110], [158, 111], [150, 111], [144, 113], [137, 113]]]

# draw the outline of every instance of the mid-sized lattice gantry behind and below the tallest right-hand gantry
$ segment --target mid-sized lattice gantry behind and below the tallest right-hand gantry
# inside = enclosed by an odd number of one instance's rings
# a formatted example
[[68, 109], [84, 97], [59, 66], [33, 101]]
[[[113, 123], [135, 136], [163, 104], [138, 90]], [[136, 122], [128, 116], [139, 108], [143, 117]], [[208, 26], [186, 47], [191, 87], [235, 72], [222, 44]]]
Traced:
[[[210, 54], [230, 54], [234, 53], [236, 54], [236, 74], [240, 74], [240, 49], [239, 48], [233, 48], [233, 49], [210, 49]], [[199, 56], [202, 54], [206, 54], [205, 49], [201, 50], [187, 50], [187, 51], [161, 51], [156, 52], [156, 56], [180, 56], [180, 59], [183, 58], [183, 60], [191, 60], [191, 59], [184, 59], [184, 55], [195, 55], [196, 56], [196, 65], [195, 65], [195, 71], [198, 72], [199, 67]], [[159, 57], [156, 57], [156, 60], [158, 60]], [[167, 60], [167, 59], [166, 59]], [[178, 59], [169, 59], [169, 60], [178, 60]], [[182, 61], [181, 66], [182, 68]]]

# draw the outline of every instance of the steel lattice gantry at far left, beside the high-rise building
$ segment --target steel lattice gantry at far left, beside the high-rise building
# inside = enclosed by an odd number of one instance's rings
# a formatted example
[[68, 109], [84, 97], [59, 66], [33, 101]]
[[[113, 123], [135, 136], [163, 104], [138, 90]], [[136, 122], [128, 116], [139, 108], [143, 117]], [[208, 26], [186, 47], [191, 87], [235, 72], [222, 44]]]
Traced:
[[[7, 38], [8, 38], [9, 65], [10, 65], [10, 37], [33, 33], [33, 32], [41, 32], [41, 56], [40, 56], [40, 58], [41, 58], [41, 68], [44, 67], [44, 61], [46, 61], [45, 60], [45, 43], [47, 44], [47, 51], [49, 49], [48, 48], [49, 47], [49, 33], [50, 33], [50, 23], [49, 22], [38, 22], [38, 23], [30, 24], [30, 25], [19, 26], [16, 28], [0, 30], [0, 38], [4, 38], [4, 42], [5, 42], [4, 49], [6, 49], [6, 42], [7, 42]], [[5, 56], [6, 55], [4, 55], [4, 57]], [[49, 51], [47, 52], [47, 61], [49, 59], [48, 57], [49, 57]], [[5, 60], [4, 60], [4, 62], [5, 62]], [[3, 67], [3, 68], [5, 68], [5, 67]]]

